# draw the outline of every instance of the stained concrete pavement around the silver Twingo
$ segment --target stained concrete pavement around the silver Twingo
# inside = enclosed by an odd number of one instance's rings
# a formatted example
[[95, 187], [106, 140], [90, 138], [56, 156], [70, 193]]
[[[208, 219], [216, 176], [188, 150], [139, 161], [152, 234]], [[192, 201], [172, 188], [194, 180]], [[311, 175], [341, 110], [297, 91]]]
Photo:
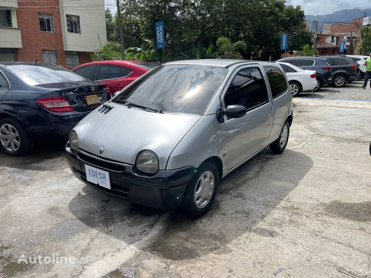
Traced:
[[[285, 152], [232, 172], [197, 220], [91, 189], [55, 145], [0, 153], [0, 277], [371, 277], [371, 103], [294, 112]], [[17, 264], [56, 253], [75, 264]]]

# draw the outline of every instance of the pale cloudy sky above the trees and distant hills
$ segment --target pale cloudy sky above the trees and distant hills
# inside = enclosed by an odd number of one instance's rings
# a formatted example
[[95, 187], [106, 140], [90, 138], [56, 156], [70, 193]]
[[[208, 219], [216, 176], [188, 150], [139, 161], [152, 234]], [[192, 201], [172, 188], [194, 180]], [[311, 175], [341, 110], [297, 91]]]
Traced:
[[[106, 7], [109, 7], [112, 13], [116, 12], [114, 4], [116, 0], [104, 0]], [[360, 0], [360, 1], [349, 1], [349, 0], [286, 0], [287, 4], [292, 4], [294, 6], [300, 5], [305, 11], [305, 14], [328, 14], [334, 11], [344, 10], [354, 8], [356, 6], [358, 9], [370, 9], [370, 0]], [[354, 11], [355, 16], [358, 16], [358, 11]]]

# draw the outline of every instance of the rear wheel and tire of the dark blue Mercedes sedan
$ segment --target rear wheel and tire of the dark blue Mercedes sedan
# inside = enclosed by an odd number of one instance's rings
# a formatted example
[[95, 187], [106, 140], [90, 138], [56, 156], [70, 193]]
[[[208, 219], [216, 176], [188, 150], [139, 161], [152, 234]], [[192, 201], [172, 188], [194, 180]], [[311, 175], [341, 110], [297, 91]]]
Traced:
[[30, 151], [32, 141], [20, 122], [13, 118], [0, 121], [0, 148], [13, 156], [26, 155]]

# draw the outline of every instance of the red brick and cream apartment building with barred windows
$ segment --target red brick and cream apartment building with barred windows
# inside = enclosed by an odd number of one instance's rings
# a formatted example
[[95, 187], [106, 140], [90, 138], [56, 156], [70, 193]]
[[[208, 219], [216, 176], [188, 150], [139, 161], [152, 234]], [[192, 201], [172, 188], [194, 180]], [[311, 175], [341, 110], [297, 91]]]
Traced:
[[104, 0], [0, 1], [0, 62], [73, 68], [107, 42]]

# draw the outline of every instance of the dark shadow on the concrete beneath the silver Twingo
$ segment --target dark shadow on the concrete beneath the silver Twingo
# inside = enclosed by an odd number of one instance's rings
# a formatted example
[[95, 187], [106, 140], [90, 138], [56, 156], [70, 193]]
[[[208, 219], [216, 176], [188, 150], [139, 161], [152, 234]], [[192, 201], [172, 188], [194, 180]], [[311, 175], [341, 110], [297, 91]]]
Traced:
[[[255, 227], [299, 185], [312, 165], [312, 159], [300, 152], [286, 149], [282, 155], [273, 155], [263, 150], [221, 181], [206, 215], [188, 219], [171, 212], [164, 234], [143, 250], [178, 261], [231, 252], [224, 246], [247, 232], [274, 234]], [[128, 204], [89, 186], [83, 192], [70, 201], [70, 212], [83, 224], [130, 244], [137, 235], [148, 233], [146, 222], [165, 213]]]

